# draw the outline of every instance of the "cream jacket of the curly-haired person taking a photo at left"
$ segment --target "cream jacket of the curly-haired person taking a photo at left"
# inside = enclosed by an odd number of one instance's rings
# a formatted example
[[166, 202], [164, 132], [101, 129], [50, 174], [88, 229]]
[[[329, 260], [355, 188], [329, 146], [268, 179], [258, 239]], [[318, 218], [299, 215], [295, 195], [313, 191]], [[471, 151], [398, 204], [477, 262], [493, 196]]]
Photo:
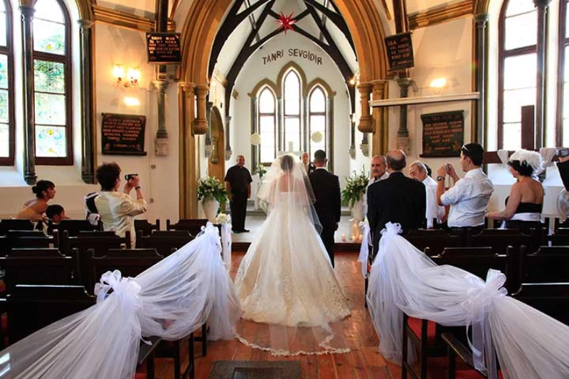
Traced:
[[99, 211], [104, 230], [112, 230], [124, 237], [130, 230], [130, 241], [134, 249], [137, 235], [134, 230], [134, 217], [147, 211], [148, 205], [144, 199], [134, 200], [126, 193], [118, 191], [101, 191], [95, 198], [95, 206]]

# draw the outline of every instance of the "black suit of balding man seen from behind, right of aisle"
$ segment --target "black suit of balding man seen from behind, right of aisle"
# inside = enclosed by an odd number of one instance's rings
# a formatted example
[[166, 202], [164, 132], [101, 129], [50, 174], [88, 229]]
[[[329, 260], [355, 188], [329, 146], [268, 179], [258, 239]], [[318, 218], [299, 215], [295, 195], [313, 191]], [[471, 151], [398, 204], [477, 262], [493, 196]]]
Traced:
[[403, 233], [422, 228], [425, 223], [425, 185], [405, 177], [402, 172], [395, 171], [384, 181], [371, 184], [367, 196], [374, 255], [378, 251], [379, 237], [386, 223], [400, 223]]

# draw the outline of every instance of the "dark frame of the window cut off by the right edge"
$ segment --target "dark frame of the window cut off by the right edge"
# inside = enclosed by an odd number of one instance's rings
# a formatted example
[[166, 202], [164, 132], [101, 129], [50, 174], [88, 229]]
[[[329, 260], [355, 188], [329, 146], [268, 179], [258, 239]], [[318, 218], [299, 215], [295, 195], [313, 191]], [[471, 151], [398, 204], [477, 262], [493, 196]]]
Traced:
[[[563, 87], [565, 84], [565, 48], [569, 47], [569, 37], [565, 37], [568, 25], [565, 23], [569, 0], [559, 1], [558, 69], [557, 69], [557, 109], [555, 112], [555, 145], [563, 146]], [[569, 85], [569, 78], [568, 85]], [[568, 99], [569, 100], [569, 99]], [[569, 107], [569, 105], [568, 105]], [[569, 122], [568, 122], [569, 127]]]

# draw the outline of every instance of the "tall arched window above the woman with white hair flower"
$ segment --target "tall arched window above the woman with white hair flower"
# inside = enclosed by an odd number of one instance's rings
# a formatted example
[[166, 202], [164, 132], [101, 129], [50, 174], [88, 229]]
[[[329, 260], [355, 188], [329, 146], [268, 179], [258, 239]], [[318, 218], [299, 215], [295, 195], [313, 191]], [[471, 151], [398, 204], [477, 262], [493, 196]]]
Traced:
[[505, 0], [499, 22], [498, 147], [521, 146], [521, 107], [536, 105], [537, 13], [533, 0]]

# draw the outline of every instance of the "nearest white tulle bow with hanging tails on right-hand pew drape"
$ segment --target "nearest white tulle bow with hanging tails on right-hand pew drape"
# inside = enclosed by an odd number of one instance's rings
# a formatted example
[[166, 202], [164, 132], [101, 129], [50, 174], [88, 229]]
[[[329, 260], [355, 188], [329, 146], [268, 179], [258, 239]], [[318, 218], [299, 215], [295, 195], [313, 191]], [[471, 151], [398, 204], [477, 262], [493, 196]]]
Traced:
[[489, 378], [496, 378], [497, 368], [494, 343], [492, 342], [489, 325], [489, 313], [491, 312], [492, 301], [497, 297], [504, 297], [508, 294], [504, 288], [506, 275], [498, 270], [489, 269], [486, 275], [486, 282], [482, 287], [479, 287], [480, 282], [478, 281], [474, 283], [471, 280], [471, 282], [473, 287], [467, 291], [469, 314], [467, 331], [469, 326], [472, 326], [472, 341], [467, 337], [469, 346], [472, 349], [474, 367], [482, 372], [487, 372]]

